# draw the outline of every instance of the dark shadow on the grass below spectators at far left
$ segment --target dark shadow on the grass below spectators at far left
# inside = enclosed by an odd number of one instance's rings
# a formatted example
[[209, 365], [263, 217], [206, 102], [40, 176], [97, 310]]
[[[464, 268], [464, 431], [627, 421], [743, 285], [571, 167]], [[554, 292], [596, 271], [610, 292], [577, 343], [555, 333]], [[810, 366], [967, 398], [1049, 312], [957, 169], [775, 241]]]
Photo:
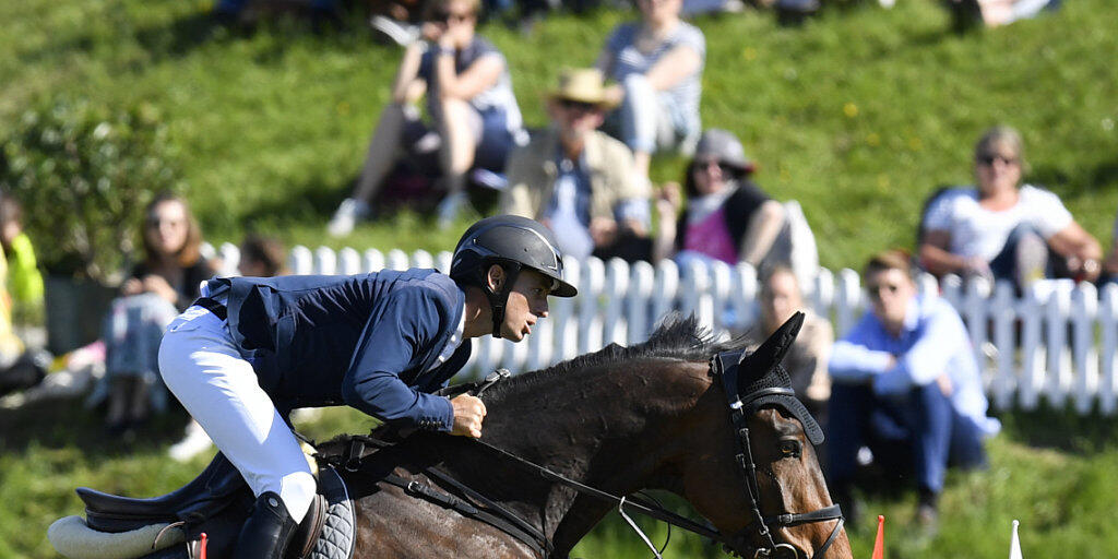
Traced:
[[89, 456], [120, 456], [158, 449], [182, 438], [186, 413], [177, 405], [131, 434], [110, 435], [102, 409], [87, 409], [84, 398], [50, 399], [0, 409], [0, 453], [23, 453], [30, 446], [79, 448]]

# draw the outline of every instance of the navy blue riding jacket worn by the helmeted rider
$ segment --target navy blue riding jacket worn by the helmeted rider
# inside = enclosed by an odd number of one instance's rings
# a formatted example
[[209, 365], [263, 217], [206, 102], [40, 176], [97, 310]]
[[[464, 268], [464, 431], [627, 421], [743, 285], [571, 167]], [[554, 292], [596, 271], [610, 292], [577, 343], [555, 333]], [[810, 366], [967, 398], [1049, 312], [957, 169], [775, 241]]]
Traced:
[[[434, 269], [356, 276], [221, 277], [229, 331], [276, 407], [348, 404], [388, 423], [449, 430], [451, 402], [430, 391], [470, 358], [438, 356], [465, 294]], [[437, 366], [437, 367], [436, 367]]]

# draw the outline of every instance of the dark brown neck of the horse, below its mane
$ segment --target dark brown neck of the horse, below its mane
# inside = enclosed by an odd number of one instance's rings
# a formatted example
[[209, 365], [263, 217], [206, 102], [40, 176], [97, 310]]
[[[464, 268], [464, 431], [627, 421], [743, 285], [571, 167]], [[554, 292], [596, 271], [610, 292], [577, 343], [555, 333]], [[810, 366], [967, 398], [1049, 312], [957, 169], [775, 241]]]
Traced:
[[[664, 486], [660, 474], [684, 443], [667, 440], [662, 424], [694, 406], [709, 386], [705, 371], [701, 363], [652, 360], [614, 372], [574, 371], [536, 391], [510, 390], [486, 402], [485, 440], [613, 494]], [[553, 537], [557, 550], [574, 546], [610, 508], [500, 461], [465, 462], [487, 472], [482, 483], [500, 483], [493, 490], [510, 495], [510, 508]]]

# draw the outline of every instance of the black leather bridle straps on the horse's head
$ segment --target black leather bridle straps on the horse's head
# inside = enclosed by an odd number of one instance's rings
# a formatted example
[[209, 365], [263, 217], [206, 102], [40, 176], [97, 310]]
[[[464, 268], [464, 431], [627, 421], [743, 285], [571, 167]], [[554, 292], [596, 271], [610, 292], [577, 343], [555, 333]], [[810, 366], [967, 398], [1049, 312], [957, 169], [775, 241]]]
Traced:
[[[741, 356], [741, 351], [720, 353], [711, 360], [711, 372], [712, 375], [722, 379], [722, 388], [726, 390], [726, 397], [730, 406], [730, 423], [733, 425], [733, 442], [737, 446], [737, 454], [733, 456], [733, 463], [738, 466], [738, 472], [741, 474], [743, 485], [746, 487], [746, 498], [749, 500], [750, 508], [752, 509], [754, 524], [746, 527], [740, 532], [735, 534], [733, 541], [736, 544], [731, 544], [732, 551], [741, 555], [742, 557], [752, 557], [754, 559], [799, 559], [800, 557], [811, 558], [822, 558], [834, 543], [835, 538], [839, 537], [839, 532], [843, 527], [843, 515], [842, 509], [837, 504], [832, 504], [823, 509], [818, 509], [812, 512], [805, 513], [787, 513], [766, 517], [761, 514], [760, 510], [760, 489], [757, 485], [757, 465], [754, 463], [752, 447], [749, 444], [749, 427], [747, 425], [746, 409], [749, 405], [757, 399], [765, 396], [787, 396], [795, 398], [796, 392], [792, 388], [787, 387], [773, 387], [762, 388], [759, 390], [754, 390], [745, 396], [738, 395], [738, 361]], [[802, 552], [795, 546], [786, 542], [777, 543], [773, 539], [773, 531], [769, 525], [776, 528], [790, 528], [800, 524], [807, 524], [812, 522], [826, 522], [830, 520], [837, 520], [834, 529], [831, 530], [831, 536], [827, 540], [819, 546], [812, 556], [807, 556]], [[756, 527], [754, 529], [754, 527]], [[752, 533], [756, 533], [762, 542], [760, 547], [754, 546], [750, 542], [755, 541], [751, 538]], [[751, 556], [747, 556], [747, 550], [752, 550]]]

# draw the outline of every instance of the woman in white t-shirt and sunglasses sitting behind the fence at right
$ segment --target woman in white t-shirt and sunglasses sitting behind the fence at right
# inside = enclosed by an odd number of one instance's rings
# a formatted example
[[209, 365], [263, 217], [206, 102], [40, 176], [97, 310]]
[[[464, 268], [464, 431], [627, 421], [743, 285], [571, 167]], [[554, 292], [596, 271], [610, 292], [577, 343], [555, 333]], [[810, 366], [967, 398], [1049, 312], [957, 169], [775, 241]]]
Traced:
[[1008, 280], [1018, 288], [1042, 277], [1099, 276], [1102, 248], [1071, 217], [1060, 198], [1021, 184], [1021, 134], [987, 131], [975, 146], [977, 187], [939, 195], [923, 218], [921, 264], [939, 276]]

